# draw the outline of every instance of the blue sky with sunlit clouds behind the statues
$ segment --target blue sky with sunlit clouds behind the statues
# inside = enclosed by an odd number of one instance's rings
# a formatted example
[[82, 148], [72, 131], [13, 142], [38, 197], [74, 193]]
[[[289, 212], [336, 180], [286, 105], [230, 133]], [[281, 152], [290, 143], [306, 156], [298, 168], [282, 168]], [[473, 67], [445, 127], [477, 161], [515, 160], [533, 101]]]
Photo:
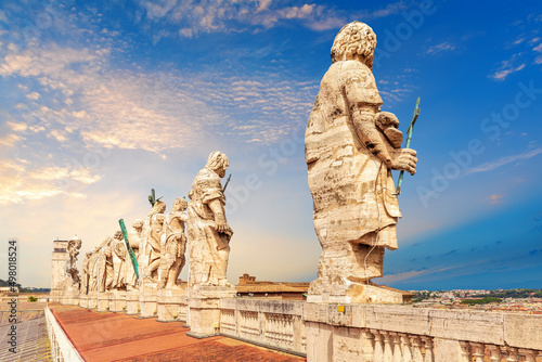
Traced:
[[92, 249], [145, 216], [151, 188], [169, 209], [216, 150], [229, 279], [313, 280], [302, 135], [354, 20], [403, 131], [422, 98], [399, 249], [375, 282], [542, 287], [542, 5], [437, 0], [2, 3], [0, 238], [20, 242], [21, 282], [48, 287], [53, 240]]

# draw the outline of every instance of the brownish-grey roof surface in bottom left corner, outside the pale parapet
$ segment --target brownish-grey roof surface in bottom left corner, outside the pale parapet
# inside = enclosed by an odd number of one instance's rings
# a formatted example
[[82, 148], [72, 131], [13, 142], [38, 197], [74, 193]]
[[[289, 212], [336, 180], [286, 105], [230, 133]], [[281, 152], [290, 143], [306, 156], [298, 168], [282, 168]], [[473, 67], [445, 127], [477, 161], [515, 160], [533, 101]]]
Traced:
[[[23, 313], [25, 315], [25, 313]], [[28, 315], [25, 315], [28, 316]], [[0, 361], [44, 362], [52, 361], [51, 345], [47, 335], [46, 318], [25, 320], [17, 326], [17, 353], [9, 351], [8, 333], [11, 324], [0, 325]]]

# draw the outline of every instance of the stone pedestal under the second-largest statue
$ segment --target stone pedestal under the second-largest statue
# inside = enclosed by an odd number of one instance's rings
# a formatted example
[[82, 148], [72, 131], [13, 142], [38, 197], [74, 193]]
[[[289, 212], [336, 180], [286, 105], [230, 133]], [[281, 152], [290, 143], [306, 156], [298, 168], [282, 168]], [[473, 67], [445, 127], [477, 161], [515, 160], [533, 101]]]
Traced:
[[233, 286], [194, 287], [189, 298], [190, 332], [186, 335], [205, 338], [220, 332], [220, 299], [235, 298], [236, 294]]

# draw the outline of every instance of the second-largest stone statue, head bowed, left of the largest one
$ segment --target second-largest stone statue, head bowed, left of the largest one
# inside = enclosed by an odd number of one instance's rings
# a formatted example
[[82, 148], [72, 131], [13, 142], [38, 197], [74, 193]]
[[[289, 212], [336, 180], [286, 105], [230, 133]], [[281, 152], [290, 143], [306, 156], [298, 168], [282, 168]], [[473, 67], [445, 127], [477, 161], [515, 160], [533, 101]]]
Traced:
[[228, 166], [223, 153], [212, 152], [192, 182], [188, 221], [191, 287], [231, 286], [225, 271], [233, 231], [225, 220], [225, 196], [220, 183]]

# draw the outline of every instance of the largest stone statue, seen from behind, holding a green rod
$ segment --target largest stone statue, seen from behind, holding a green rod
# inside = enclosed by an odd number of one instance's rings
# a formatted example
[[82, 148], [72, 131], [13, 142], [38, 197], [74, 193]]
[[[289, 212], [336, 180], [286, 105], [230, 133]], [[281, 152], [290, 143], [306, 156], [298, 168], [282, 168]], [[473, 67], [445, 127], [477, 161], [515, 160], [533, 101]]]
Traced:
[[397, 248], [401, 212], [391, 170], [414, 174], [417, 159], [415, 151], [400, 148], [397, 117], [379, 109], [375, 47], [367, 25], [353, 22], [340, 29], [307, 125], [305, 157], [322, 245], [309, 295], [366, 301], [360, 293], [382, 276], [384, 249]]

